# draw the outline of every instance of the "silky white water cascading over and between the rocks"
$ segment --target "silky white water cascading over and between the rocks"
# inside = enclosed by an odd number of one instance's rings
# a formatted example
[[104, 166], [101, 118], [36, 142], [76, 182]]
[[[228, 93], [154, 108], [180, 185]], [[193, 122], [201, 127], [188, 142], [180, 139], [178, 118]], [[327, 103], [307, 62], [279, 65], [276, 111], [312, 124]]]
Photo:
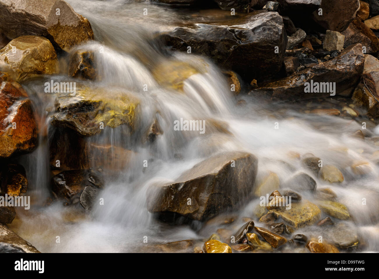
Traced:
[[[312, 176], [299, 160], [288, 156], [288, 151], [293, 151], [312, 153], [323, 158], [325, 163], [343, 170], [346, 179], [337, 186], [313, 178], [318, 189], [332, 189], [338, 200], [348, 207], [355, 217], [351, 222], [359, 227], [359, 233], [366, 241], [365, 250], [379, 249], [376, 216], [379, 212], [379, 169], [371, 161], [371, 154], [376, 149], [370, 142], [351, 136], [361, 128], [359, 123], [299, 113], [296, 105], [291, 104], [286, 104], [285, 109], [283, 104], [278, 104], [277, 108], [275, 105], [266, 106], [248, 95], [239, 97], [244, 100], [243, 105], [237, 104], [225, 77], [211, 61], [193, 54], [167, 53], [154, 39], [156, 32], [174, 27], [175, 22], [191, 22], [191, 17], [183, 12], [167, 6], [122, 0], [67, 2], [76, 12], [88, 18], [97, 39], [78, 48], [94, 53], [101, 78], [97, 82], [80, 81], [81, 85], [107, 88], [110, 95], [112, 90], [118, 90], [138, 97], [141, 100], [138, 126], [148, 127], [153, 119], [157, 119], [163, 133], [155, 142], [146, 143], [140, 140], [142, 132], [126, 139], [123, 128], [119, 126], [106, 128], [101, 134], [86, 138], [87, 144], [111, 146], [112, 156], [106, 158], [110, 166], [115, 163], [116, 155], [120, 156], [116, 154], [121, 152], [117, 147], [135, 151], [127, 167], [105, 177], [106, 187], [100, 196], [106, 201], [106, 206], [97, 205], [90, 215], [78, 216], [70, 206], [63, 206], [61, 202], [46, 205], [50, 193], [48, 144], [54, 132], [50, 125], [51, 113], [47, 112], [51, 111], [53, 99], [43, 90], [46, 79], [23, 84], [41, 119], [42, 136], [39, 147], [24, 156], [22, 162], [27, 169], [28, 191], [31, 191], [36, 205], [30, 212], [18, 208], [18, 217], [10, 225], [22, 238], [33, 243], [41, 252], [138, 252], [143, 247], [144, 236], [148, 236], [151, 243], [202, 240], [208, 238], [214, 228], [205, 226], [195, 230], [188, 225], [169, 226], [152, 218], [146, 206], [147, 188], [152, 184], [174, 181], [196, 163], [222, 151], [243, 150], [255, 154], [259, 162], [257, 180], [269, 172], [275, 172], [280, 181], [299, 172]], [[150, 15], [148, 19], [143, 15], [146, 7]], [[218, 17], [221, 18], [220, 15]], [[206, 13], [200, 13], [196, 22], [207, 19]], [[184, 81], [183, 92], [159, 85], [152, 73], [156, 65], [177, 62], [191, 65], [199, 71]], [[61, 61], [62, 73], [51, 76], [51, 79], [67, 80], [64, 75], [66, 67]], [[143, 90], [144, 85], [147, 91]], [[205, 135], [174, 131], [173, 123], [180, 118], [212, 120], [226, 126], [229, 133], [212, 125], [205, 126]], [[279, 129], [274, 129], [275, 122], [279, 123]], [[367, 132], [375, 134], [377, 131], [369, 128]], [[92, 159], [96, 163], [96, 158]], [[146, 170], [144, 160], [149, 164]], [[362, 178], [351, 172], [348, 162], [357, 160], [370, 162], [370, 175]], [[314, 200], [306, 193], [301, 194], [310, 201]], [[362, 199], [366, 199], [365, 205]], [[241, 218], [251, 216], [257, 203], [258, 199], [252, 200], [235, 213], [240, 218], [234, 224], [237, 229], [243, 224]], [[310, 235], [316, 234], [317, 230], [310, 226], [297, 233]], [[61, 238], [58, 244], [56, 236]]]

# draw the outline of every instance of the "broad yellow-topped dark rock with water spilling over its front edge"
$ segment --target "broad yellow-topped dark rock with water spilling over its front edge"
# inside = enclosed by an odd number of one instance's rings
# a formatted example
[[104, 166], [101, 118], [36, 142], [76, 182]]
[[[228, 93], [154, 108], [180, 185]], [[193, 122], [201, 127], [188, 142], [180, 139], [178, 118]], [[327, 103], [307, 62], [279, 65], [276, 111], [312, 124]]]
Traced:
[[[99, 134], [103, 128], [125, 125], [132, 133], [139, 100], [127, 92], [85, 88], [76, 84], [74, 96], [58, 93], [52, 125], [73, 129], [82, 136]], [[102, 127], [103, 126], [103, 127]]]

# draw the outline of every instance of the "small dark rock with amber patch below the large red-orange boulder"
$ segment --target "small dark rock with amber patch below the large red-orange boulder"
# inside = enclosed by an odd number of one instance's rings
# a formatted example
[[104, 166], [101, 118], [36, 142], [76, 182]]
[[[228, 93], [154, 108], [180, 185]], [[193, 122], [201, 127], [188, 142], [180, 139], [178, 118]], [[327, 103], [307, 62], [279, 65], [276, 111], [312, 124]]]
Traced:
[[0, 172], [1, 193], [8, 196], [19, 196], [28, 189], [28, 180], [25, 169], [21, 165], [8, 164], [2, 172]]

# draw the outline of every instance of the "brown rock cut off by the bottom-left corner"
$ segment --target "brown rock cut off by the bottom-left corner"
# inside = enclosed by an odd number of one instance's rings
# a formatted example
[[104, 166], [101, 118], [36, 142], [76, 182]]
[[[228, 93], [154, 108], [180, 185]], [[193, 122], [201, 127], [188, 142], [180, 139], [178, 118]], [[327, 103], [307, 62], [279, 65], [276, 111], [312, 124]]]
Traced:
[[1, 244], [0, 246], [1, 252], [6, 252], [9, 250], [14, 251], [15, 249], [17, 250], [20, 249], [26, 253], [39, 253], [39, 251], [34, 246], [31, 246], [30, 243], [23, 240], [20, 236], [16, 235], [16, 233], [10, 230], [6, 225], [1, 225], [1, 224], [0, 224], [0, 244]]

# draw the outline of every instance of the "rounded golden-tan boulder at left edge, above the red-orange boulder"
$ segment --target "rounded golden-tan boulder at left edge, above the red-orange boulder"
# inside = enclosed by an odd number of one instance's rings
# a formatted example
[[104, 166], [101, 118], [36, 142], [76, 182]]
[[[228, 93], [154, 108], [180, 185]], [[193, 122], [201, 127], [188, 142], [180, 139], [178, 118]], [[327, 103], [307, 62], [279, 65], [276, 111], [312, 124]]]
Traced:
[[0, 50], [0, 61], [16, 73], [17, 80], [56, 71], [56, 53], [50, 41], [39, 36], [20, 36]]

